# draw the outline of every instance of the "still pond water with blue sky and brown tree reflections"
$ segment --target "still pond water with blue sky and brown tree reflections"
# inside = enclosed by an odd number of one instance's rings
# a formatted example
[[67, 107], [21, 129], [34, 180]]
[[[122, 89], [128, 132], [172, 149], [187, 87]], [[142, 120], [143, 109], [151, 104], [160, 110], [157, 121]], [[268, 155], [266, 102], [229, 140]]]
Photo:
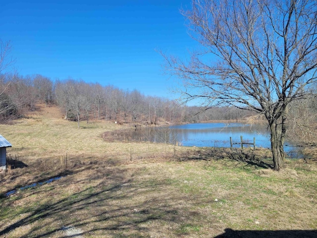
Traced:
[[[132, 140], [197, 147], [230, 147], [230, 137], [235, 143], [241, 141], [242, 135], [243, 142], [253, 143], [255, 137], [257, 147], [270, 148], [269, 132], [266, 126], [258, 124], [192, 123], [168, 127], [146, 127], [131, 133], [129, 139]], [[241, 147], [241, 145], [236, 144], [233, 147]], [[293, 147], [291, 142], [285, 142], [284, 150], [290, 157], [299, 156], [298, 148]]]

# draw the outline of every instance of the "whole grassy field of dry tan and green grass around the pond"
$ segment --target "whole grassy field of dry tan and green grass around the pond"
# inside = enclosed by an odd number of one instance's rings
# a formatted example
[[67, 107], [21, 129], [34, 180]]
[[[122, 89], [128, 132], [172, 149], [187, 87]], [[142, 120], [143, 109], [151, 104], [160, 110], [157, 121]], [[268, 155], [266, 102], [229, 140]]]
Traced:
[[316, 237], [315, 161], [273, 172], [260, 150], [247, 161], [225, 149], [102, 139], [127, 127], [78, 129], [55, 107], [0, 125], [9, 157], [28, 165], [0, 173], [0, 238]]

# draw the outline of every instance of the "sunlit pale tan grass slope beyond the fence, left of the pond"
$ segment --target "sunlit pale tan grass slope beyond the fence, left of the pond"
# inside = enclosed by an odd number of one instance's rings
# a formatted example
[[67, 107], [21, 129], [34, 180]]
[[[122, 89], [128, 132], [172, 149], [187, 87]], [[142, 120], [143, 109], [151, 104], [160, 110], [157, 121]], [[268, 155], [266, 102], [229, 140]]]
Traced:
[[[140, 155], [137, 143], [105, 143], [102, 133], [129, 127], [108, 121], [82, 121], [80, 128], [77, 122], [62, 119], [62, 115], [55, 107], [43, 108], [39, 113], [28, 115], [27, 119], [17, 120], [14, 125], [0, 125], [1, 134], [7, 138], [12, 146], [8, 153], [17, 154], [26, 160], [58, 158], [66, 156], [74, 158], [130, 157]], [[143, 146], [142, 146], [143, 147]], [[153, 147], [149, 145], [149, 147]], [[157, 150], [165, 150], [161, 146]], [[152, 151], [152, 148], [149, 148]], [[143, 148], [141, 149], [142, 152]], [[143, 154], [143, 153], [141, 153]]]

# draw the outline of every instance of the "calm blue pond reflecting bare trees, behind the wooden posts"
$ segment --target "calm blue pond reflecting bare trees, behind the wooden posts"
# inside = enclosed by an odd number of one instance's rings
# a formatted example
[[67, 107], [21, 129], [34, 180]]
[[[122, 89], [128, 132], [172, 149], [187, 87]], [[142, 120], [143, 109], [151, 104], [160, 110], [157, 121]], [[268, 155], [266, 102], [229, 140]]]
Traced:
[[[190, 124], [186, 126], [188, 127]], [[240, 136], [243, 135], [244, 142], [253, 142], [253, 137], [256, 137], [257, 147], [269, 148], [267, 126], [263, 124], [230, 124], [220, 127], [212, 123], [206, 123], [202, 126], [203, 127], [199, 127], [201, 129], [198, 127], [193, 129], [191, 127], [180, 128], [178, 126], [169, 126], [107, 131], [103, 134], [103, 138], [106, 141], [149, 141], [153, 143], [198, 147], [230, 147], [230, 136], [232, 136], [234, 142], [239, 142]], [[248, 138], [248, 135], [251, 135], [251, 137]], [[284, 150], [288, 153], [291, 151], [296, 153], [296, 156], [291, 154], [289, 154], [289, 156], [299, 158], [298, 147], [293, 148], [290, 141], [286, 141], [286, 143], [290, 146], [286, 146]]]

